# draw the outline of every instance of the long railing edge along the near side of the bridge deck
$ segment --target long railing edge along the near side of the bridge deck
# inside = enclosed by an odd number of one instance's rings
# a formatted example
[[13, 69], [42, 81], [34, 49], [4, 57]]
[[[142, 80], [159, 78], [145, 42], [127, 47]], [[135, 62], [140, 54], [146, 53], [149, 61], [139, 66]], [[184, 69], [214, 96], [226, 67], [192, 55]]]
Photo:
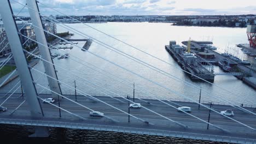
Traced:
[[122, 133], [172, 136], [172, 137], [181, 137], [181, 138], [196, 139], [196, 140], [210, 140], [210, 141], [232, 142], [232, 143], [256, 143], [256, 139], [246, 139], [242, 137], [207, 135], [207, 134], [185, 133], [185, 132], [179, 132], [179, 131], [167, 131], [167, 130], [131, 128], [131, 127], [118, 127], [113, 125], [38, 121], [38, 120], [28, 120], [28, 119], [7, 119], [7, 118], [0, 118], [0, 123], [33, 125], [33, 126], [44, 126], [44, 127], [61, 127], [61, 128], [72, 128], [72, 129], [115, 131], [115, 132], [122, 132]]

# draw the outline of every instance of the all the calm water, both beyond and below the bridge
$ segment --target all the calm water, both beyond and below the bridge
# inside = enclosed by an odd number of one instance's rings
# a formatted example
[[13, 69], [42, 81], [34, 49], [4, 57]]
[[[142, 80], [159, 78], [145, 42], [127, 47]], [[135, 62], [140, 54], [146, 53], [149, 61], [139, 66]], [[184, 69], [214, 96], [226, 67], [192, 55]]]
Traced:
[[[209, 85], [205, 82], [192, 82], [179, 68], [179, 65], [173, 61], [172, 57], [166, 52], [165, 45], [168, 44], [169, 40], [176, 40], [179, 44], [183, 40], [188, 40], [189, 38], [193, 40], [213, 40], [215, 46], [217, 46], [220, 52], [229, 51], [229, 53], [234, 53], [240, 58], [247, 59], [243, 56], [243, 53], [235, 47], [235, 44], [246, 43], [246, 29], [245, 28], [219, 28], [219, 27], [183, 27], [183, 26], [171, 26], [170, 23], [91, 23], [93, 26], [101, 31], [104, 31], [115, 38], [124, 40], [139, 49], [151, 53], [152, 55], [163, 59], [164, 61], [171, 63], [171, 65], [160, 62], [150, 56], [145, 55], [131, 47], [120, 43], [117, 40], [111, 39], [106, 35], [96, 32], [82, 24], [67, 24], [80, 32], [90, 35], [103, 43], [115, 47], [116, 49], [129, 53], [136, 58], [141, 59], [149, 64], [158, 67], [167, 73], [178, 77], [183, 81], [193, 83], [193, 85], [202, 87], [208, 92], [214, 93], [226, 100], [230, 100], [234, 103], [244, 105], [252, 105], [255, 102], [255, 91], [251, 87], [248, 87], [241, 81], [237, 80], [234, 76], [216, 76], [214, 84], [228, 89], [234, 94], [225, 92], [216, 86]], [[66, 32], [67, 30], [57, 26], [58, 32]], [[71, 32], [71, 31], [69, 31]], [[75, 34], [73, 38], [83, 38], [82, 36]], [[84, 43], [79, 42], [78, 46], [82, 47]], [[60, 45], [57, 45], [60, 46]], [[155, 85], [141, 77], [135, 76], [109, 62], [103, 61], [102, 59], [91, 55], [89, 52], [84, 52], [78, 47], [72, 50], [64, 50], [64, 52], [74, 55], [85, 62], [96, 65], [96, 67], [106, 70], [108, 73], [115, 76], [121, 77], [124, 80], [130, 82], [130, 84], [124, 85], [123, 83], [117, 82], [110, 77], [98, 73], [95, 70], [90, 69], [89, 64], [82, 62], [77, 63], [71, 58], [68, 59], [54, 59], [54, 63], [59, 65], [56, 66], [58, 70], [57, 74], [59, 79], [71, 86], [74, 86], [74, 80], [77, 82], [77, 88], [81, 89], [85, 93], [94, 95], [106, 95], [117, 93], [122, 97], [126, 97], [127, 94], [132, 95], [132, 83], [135, 82], [135, 94], [139, 98], [150, 98], [152, 95], [148, 92], [139, 91], [139, 87], [147, 89], [147, 91], [152, 92], [154, 97], [170, 100], [181, 100], [181, 101], [191, 101], [185, 99], [181, 95], [185, 95], [194, 100], [198, 100], [200, 90], [196, 88], [191, 88], [184, 84], [184, 82], [176, 81], [167, 77], [165, 75], [159, 74], [154, 70], [151, 70], [141, 64], [131, 61], [126, 57], [120, 56], [117, 53], [102, 47], [99, 44], [92, 43], [90, 52], [94, 52], [109, 61], [117, 63], [124, 68], [135, 71], [135, 73], [151, 79], [159, 85], [166, 86], [172, 91], [167, 91], [165, 88]], [[54, 53], [54, 51], [52, 51]], [[62, 51], [58, 51], [62, 53]], [[44, 71], [43, 64], [40, 62], [36, 69]], [[63, 69], [66, 70], [63, 70]], [[216, 73], [221, 72], [218, 67], [214, 67]], [[72, 74], [68, 73], [71, 72]], [[34, 80], [38, 80], [41, 85], [47, 86], [46, 77], [42, 74], [33, 71], [32, 72]], [[74, 74], [74, 75], [73, 75]], [[77, 76], [75, 76], [77, 75]], [[3, 87], [1, 91], [7, 91], [13, 87], [18, 79], [10, 82], [7, 86]], [[95, 83], [100, 87], [92, 85], [90, 82]], [[61, 85], [62, 91], [64, 93], [74, 93], [73, 89], [68, 89], [65, 85]], [[41, 87], [37, 87], [38, 92], [49, 93]], [[108, 90], [109, 91], [108, 91]], [[114, 93], [110, 92], [113, 91]], [[181, 95], [176, 94], [179, 93]], [[114, 95], [116, 96], [116, 95]], [[202, 101], [207, 103], [213, 101], [214, 103], [223, 103], [222, 100], [214, 98], [206, 92], [202, 92]], [[8, 131], [8, 132], [7, 132]], [[17, 132], [18, 131], [18, 132]], [[26, 136], [31, 134], [30, 127], [17, 127], [17, 126], [7, 126], [1, 125], [0, 127], [1, 137], [6, 139], [11, 139], [13, 136], [16, 137], [14, 141], [25, 141], [25, 142], [38, 142], [39, 139], [28, 139]], [[18, 135], [16, 135], [18, 134]], [[13, 136], [9, 136], [13, 135]], [[136, 138], [134, 138], [136, 137]], [[73, 130], [73, 129], [51, 129], [51, 136], [45, 140], [48, 143], [130, 143], [131, 140], [136, 140], [135, 143], [217, 143], [217, 142], [205, 142], [205, 141], [194, 141], [188, 139], [176, 139], [171, 137], [158, 137], [158, 136], [144, 136], [144, 135], [132, 135], [132, 134], [121, 134], [113, 132], [102, 132], [102, 131], [86, 131], [86, 130]]]

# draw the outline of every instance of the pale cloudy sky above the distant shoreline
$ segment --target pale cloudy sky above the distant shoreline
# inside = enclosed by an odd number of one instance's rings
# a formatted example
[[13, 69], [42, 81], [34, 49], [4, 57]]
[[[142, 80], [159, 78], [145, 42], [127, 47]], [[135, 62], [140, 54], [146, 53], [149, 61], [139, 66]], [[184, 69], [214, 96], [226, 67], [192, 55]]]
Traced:
[[[14, 0], [25, 4], [25, 0]], [[22, 5], [11, 0], [14, 13]], [[67, 15], [238, 15], [256, 14], [255, 0], [39, 0]], [[57, 12], [39, 4], [45, 15]], [[21, 15], [27, 15], [23, 10]], [[60, 15], [60, 14], [59, 14]]]

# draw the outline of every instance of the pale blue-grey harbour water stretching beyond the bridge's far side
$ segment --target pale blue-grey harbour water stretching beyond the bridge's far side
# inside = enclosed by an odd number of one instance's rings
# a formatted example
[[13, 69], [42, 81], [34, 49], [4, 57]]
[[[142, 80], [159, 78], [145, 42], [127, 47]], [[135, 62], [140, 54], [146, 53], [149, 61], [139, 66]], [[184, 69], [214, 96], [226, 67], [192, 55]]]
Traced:
[[[126, 97], [126, 95], [133, 95], [133, 83], [135, 83], [135, 96], [139, 98], [155, 99], [157, 97], [176, 101], [198, 101], [201, 87], [202, 103], [226, 104], [226, 101], [231, 101], [239, 105], [243, 103], [244, 106], [256, 106], [255, 90], [237, 80], [236, 77], [217, 75], [214, 85], [191, 81], [165, 50], [165, 45], [168, 45], [170, 40], [176, 40], [178, 44], [184, 40], [189, 40], [189, 38], [192, 40], [210, 40], [213, 41], [214, 46], [218, 47], [218, 52], [234, 53], [237, 57], [248, 59], [251, 57], [247, 57], [239, 47], [236, 47], [236, 44], [247, 43], [246, 28], [171, 26], [170, 23], [148, 22], [86, 23], [85, 25], [73, 23], [65, 25], [74, 28], [77, 32], [63, 28], [61, 24], [57, 25], [57, 32], [69, 31], [74, 33], [73, 39], [94, 38], [98, 40], [92, 42], [89, 52], [80, 50], [85, 43], [84, 41], [79, 41], [72, 50], [51, 51], [52, 53], [69, 53], [71, 55], [66, 59], [54, 59], [55, 68], [58, 71], [57, 75], [60, 81], [68, 86], [74, 87], [75, 80], [77, 88], [86, 94], [109, 94], [114, 97]], [[95, 31], [86, 25], [109, 35]], [[133, 47], [109, 36], [120, 39]], [[70, 45], [56, 45], [56, 47], [63, 46]], [[113, 48], [119, 53], [120, 51], [124, 52], [129, 55], [128, 57], [138, 58], [139, 61], [153, 65], [166, 73], [161, 74], [159, 70], [152, 70], [132, 61], [122, 56], [123, 53], [120, 55], [110, 50]], [[142, 51], [150, 53], [150, 55], [158, 57], [168, 64], [146, 55]], [[34, 68], [44, 72], [42, 61]], [[224, 73], [218, 66], [214, 66], [214, 71], [215, 73]], [[42, 73], [32, 70], [32, 74], [34, 80], [37, 80], [40, 85], [48, 86], [46, 77]], [[8, 91], [17, 81], [18, 79], [10, 82], [1, 88], [1, 91]], [[62, 92], [74, 94], [74, 89], [67, 85], [61, 85]], [[37, 86], [37, 89], [38, 92], [49, 93], [40, 86]]]

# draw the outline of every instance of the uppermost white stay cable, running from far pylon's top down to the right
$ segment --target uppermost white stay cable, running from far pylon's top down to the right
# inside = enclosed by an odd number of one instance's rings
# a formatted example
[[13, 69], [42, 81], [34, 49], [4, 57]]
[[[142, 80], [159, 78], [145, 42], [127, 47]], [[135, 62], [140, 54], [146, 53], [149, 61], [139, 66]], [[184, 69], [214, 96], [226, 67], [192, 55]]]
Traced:
[[[14, 1], [14, 2], [15, 2], [15, 1]], [[37, 1], [37, 2], [38, 2], [38, 1]], [[18, 3], [18, 2], [17, 2], [17, 3]], [[38, 2], [38, 3], [40, 3], [40, 2]], [[43, 4], [43, 3], [40, 3], [40, 4], [44, 5], [45, 7], [50, 8], [50, 9], [53, 9], [53, 8], [49, 7], [48, 5], [45, 5], [45, 4]], [[58, 11], [58, 10], [55, 10], [55, 9], [53, 9], [53, 10], [54, 10], [54, 11], [57, 11], [58, 13], [61, 13], [61, 12]], [[61, 14], [63, 14], [63, 13], [61, 13]], [[79, 22], [79, 23], [82, 23], [83, 25], [88, 26], [88, 27], [94, 29], [95, 31], [98, 31], [98, 32], [100, 32], [100, 33], [103, 33], [103, 34], [107, 35], [107, 36], [110, 37], [110, 38], [113, 38], [113, 39], [115, 39], [115, 40], [118, 40], [118, 41], [120, 41], [121, 43], [132, 47], [133, 49], [136, 49], [136, 50], [138, 50], [138, 51], [141, 51], [141, 52], [145, 53], [146, 55], [152, 56], [153, 58], [158, 59], [158, 60], [161, 61], [161, 62], [164, 62], [164, 63], [166, 63], [166, 64], [169, 64], [169, 65], [171, 65], [172, 67], [174, 67], [174, 68], [176, 68], [176, 69], [182, 70], [182, 71], [184, 71], [185, 73], [188, 73], [188, 74], [190, 74], [190, 75], [193, 75], [193, 76], [195, 76], [195, 77], [197, 77], [197, 78], [199, 78], [199, 79], [201, 79], [201, 80], [203, 80], [203, 81], [205, 81], [205, 82], [207, 82], [207, 83], [211, 83], [212, 85], [214, 85], [214, 86], [216, 86], [216, 87], [218, 87], [218, 88], [220, 88], [220, 89], [223, 89], [223, 90], [226, 91], [226, 92], [232, 93], [232, 94], [236, 95], [237, 97], [239, 97], [237, 94], [235, 94], [235, 93], [233, 93], [233, 92], [231, 92], [231, 91], [228, 91], [228, 90], [225, 89], [225, 88], [219, 87], [219, 86], [217, 86], [216, 84], [214, 84], [214, 83], [212, 83], [212, 82], [206, 81], [206, 80], [202, 79], [201, 77], [198, 77], [198, 76], [196, 76], [196, 75], [194, 75], [194, 74], [191, 74], [191, 73], [189, 73], [188, 71], [185, 71], [185, 70], [183, 70], [183, 69], [181, 69], [181, 68], [179, 68], [179, 67], [176, 67], [176, 65], [173, 65], [173, 64], [171, 64], [171, 63], [168, 63], [168, 62], [166, 62], [166, 61], [164, 61], [164, 60], [162, 60], [162, 59], [160, 59], [160, 58], [158, 58], [158, 57], [156, 57], [156, 56], [154, 56], [154, 55], [152, 55], [152, 54], [150, 54], [150, 53], [148, 53], [148, 52], [142, 51], [142, 50], [138, 49], [137, 47], [132, 46], [132, 45], [130, 45], [130, 44], [128, 44], [128, 43], [125, 43], [124, 41], [119, 40], [119, 39], [117, 39], [117, 38], [115, 38], [115, 37], [113, 37], [113, 36], [111, 36], [111, 35], [109, 35], [109, 34], [107, 34], [107, 33], [104, 33], [104, 32], [102, 32], [102, 31], [100, 31], [100, 30], [98, 30], [98, 29], [96, 29], [96, 28], [94, 28], [94, 27], [92, 27], [92, 26], [90, 26], [90, 25], [87, 25], [86, 23], [83, 23], [83, 22], [81, 22], [81, 21], [78, 21], [77, 19], [74, 19], [74, 18], [71, 17], [71, 16], [68, 16], [68, 15], [66, 15], [66, 14], [63, 14], [63, 15], [65, 15], [65, 16], [69, 17], [70, 19], [73, 19], [73, 20], [75, 20], [75, 21], [77, 21], [77, 22]]]

